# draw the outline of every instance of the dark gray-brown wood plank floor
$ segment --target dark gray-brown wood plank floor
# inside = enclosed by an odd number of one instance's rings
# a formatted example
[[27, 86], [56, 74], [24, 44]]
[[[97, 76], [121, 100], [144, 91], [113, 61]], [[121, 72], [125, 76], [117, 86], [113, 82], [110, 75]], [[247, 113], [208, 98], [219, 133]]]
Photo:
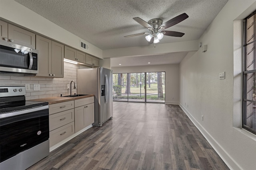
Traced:
[[113, 110], [29, 170], [228, 170], [178, 105], [114, 102]]

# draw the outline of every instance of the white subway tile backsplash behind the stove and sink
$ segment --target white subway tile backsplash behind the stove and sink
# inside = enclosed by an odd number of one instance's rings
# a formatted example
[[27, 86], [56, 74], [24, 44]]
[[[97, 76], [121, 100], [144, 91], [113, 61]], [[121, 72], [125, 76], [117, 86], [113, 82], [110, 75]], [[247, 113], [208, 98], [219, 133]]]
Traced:
[[[0, 86], [25, 86], [30, 84], [30, 90], [26, 91], [26, 100], [56, 97], [62, 95], [69, 95], [70, 89], [67, 89], [67, 84], [70, 84], [72, 80], [77, 82], [77, 69], [88, 68], [86, 66], [80, 66], [76, 64], [70, 64], [64, 62], [64, 78], [45, 78], [34, 76], [12, 76], [12, 75], [0, 75]], [[40, 90], [34, 90], [34, 84], [40, 84]], [[74, 83], [72, 83], [72, 94], [76, 93], [76, 89], [73, 89]]]

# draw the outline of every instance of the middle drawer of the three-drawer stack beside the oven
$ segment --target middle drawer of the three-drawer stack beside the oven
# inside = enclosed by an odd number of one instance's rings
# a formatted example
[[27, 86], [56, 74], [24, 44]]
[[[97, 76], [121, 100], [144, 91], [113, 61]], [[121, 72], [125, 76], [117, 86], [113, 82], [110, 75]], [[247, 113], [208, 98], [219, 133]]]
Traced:
[[74, 121], [74, 109], [62, 111], [49, 116], [50, 131]]

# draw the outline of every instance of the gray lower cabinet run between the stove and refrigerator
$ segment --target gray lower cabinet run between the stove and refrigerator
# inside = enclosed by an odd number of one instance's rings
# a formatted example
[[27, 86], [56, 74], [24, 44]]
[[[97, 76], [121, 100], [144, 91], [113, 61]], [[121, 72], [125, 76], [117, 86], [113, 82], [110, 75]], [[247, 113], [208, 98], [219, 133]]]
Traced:
[[92, 123], [94, 123], [94, 97], [50, 104], [50, 147]]

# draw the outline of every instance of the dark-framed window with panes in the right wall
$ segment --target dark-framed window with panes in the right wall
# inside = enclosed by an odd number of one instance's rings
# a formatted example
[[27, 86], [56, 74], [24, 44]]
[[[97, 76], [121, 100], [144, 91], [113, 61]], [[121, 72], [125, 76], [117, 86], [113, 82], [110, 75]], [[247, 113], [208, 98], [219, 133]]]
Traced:
[[243, 125], [256, 134], [256, 12], [244, 19]]

